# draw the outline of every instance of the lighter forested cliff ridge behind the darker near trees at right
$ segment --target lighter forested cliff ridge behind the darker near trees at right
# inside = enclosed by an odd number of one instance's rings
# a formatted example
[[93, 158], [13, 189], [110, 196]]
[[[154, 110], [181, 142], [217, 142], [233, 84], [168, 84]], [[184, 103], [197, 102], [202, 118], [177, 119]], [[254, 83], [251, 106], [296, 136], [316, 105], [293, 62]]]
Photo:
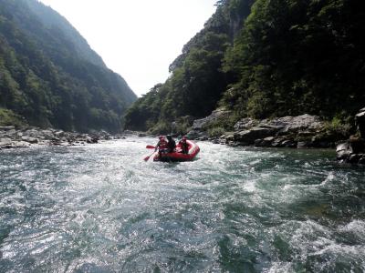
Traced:
[[204, 28], [172, 62], [172, 76], [151, 88], [128, 110], [126, 127], [167, 132], [173, 120], [184, 126], [191, 118], [183, 116], [209, 115], [232, 81], [222, 69], [224, 54], [233, 45], [253, 3], [254, 0], [219, 1]]

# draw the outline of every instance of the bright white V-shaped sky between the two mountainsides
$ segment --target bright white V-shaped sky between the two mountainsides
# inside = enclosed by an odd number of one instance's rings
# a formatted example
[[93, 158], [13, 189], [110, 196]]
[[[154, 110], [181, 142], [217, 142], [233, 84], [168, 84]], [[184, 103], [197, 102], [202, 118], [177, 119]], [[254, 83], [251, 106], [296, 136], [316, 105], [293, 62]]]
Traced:
[[169, 76], [169, 65], [213, 15], [216, 0], [40, 0], [78, 29], [138, 95]]

